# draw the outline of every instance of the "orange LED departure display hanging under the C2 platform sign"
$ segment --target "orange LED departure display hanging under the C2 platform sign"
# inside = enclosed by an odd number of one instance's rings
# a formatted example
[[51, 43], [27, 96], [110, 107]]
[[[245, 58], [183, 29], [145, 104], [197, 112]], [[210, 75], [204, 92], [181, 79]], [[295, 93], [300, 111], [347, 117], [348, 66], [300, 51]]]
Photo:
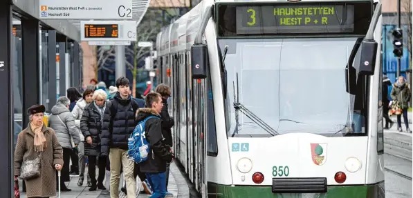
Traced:
[[85, 38], [118, 38], [118, 24], [84, 24]]

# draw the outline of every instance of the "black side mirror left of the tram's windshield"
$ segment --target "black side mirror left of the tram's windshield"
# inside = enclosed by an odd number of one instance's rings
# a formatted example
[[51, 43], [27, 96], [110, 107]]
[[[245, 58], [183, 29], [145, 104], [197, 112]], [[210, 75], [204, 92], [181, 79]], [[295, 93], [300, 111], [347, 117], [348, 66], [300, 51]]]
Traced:
[[192, 79], [207, 77], [208, 48], [204, 44], [195, 44], [191, 47]]

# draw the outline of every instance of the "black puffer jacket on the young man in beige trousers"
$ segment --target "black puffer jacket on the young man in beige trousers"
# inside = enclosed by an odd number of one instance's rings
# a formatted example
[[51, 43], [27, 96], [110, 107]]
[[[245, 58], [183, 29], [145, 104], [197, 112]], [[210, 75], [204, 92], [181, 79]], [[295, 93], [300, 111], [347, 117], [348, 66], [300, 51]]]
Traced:
[[131, 99], [122, 99], [119, 92], [107, 101], [102, 123], [102, 155], [109, 155], [109, 148], [127, 150], [128, 138], [136, 126], [135, 112], [138, 103]]

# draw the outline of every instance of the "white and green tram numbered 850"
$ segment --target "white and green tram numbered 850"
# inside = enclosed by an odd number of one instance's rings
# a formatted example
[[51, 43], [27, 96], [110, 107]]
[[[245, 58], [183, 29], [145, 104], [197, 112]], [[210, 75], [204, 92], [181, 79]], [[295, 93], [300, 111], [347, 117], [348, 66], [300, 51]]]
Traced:
[[[384, 197], [381, 3], [203, 0], [158, 34], [203, 197]], [[377, 65], [377, 66], [376, 66]]]

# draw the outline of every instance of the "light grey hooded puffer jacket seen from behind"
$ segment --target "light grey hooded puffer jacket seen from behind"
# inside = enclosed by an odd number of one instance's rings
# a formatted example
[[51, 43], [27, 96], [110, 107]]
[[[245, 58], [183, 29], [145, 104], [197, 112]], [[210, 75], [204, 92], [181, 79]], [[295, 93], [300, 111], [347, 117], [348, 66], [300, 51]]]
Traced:
[[52, 115], [48, 118], [49, 125], [55, 130], [60, 145], [63, 148], [72, 148], [71, 138], [75, 144], [78, 144], [80, 142], [79, 130], [75, 125], [75, 118], [68, 108], [62, 104], [56, 104], [51, 112]]

